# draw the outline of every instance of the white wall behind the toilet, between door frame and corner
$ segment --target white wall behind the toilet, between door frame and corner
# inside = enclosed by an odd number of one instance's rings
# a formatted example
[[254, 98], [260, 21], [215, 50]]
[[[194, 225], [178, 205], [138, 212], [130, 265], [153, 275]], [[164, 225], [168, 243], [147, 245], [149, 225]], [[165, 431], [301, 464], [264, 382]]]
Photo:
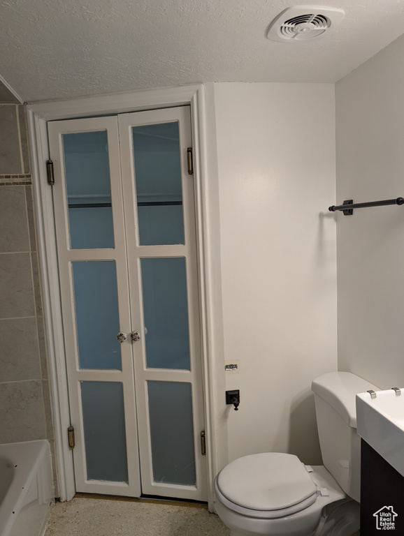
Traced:
[[[337, 368], [333, 84], [214, 84], [229, 460], [320, 461], [310, 383]], [[220, 359], [220, 357], [219, 357]], [[224, 393], [222, 395], [224, 397]]]

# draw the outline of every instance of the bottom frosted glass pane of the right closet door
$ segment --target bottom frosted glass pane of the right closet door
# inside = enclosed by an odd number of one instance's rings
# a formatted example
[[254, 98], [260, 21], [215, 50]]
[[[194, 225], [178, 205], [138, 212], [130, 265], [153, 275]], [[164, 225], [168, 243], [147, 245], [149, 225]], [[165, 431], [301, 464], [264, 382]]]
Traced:
[[154, 482], [195, 486], [192, 386], [148, 381]]

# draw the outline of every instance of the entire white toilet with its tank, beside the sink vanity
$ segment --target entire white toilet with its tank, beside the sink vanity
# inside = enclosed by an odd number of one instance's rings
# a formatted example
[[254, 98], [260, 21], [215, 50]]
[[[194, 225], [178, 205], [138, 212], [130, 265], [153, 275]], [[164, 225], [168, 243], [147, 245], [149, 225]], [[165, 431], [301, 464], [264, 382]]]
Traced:
[[352, 536], [359, 529], [357, 393], [379, 390], [349, 372], [312, 382], [324, 466], [293, 454], [243, 456], [215, 479], [215, 508], [231, 536]]

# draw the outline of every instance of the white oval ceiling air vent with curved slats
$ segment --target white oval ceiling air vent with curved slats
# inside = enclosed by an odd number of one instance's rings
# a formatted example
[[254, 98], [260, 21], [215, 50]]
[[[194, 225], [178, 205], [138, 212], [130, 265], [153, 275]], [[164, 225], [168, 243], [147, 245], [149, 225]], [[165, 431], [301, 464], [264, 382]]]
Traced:
[[345, 11], [323, 6], [287, 8], [270, 23], [266, 36], [273, 41], [297, 43], [328, 36], [338, 27]]

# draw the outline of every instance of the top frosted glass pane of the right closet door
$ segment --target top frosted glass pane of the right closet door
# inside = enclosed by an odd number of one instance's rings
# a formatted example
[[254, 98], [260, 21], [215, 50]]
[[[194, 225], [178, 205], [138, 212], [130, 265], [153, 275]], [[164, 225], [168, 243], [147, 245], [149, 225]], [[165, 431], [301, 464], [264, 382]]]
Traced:
[[132, 133], [140, 245], [184, 244], [178, 122]]

